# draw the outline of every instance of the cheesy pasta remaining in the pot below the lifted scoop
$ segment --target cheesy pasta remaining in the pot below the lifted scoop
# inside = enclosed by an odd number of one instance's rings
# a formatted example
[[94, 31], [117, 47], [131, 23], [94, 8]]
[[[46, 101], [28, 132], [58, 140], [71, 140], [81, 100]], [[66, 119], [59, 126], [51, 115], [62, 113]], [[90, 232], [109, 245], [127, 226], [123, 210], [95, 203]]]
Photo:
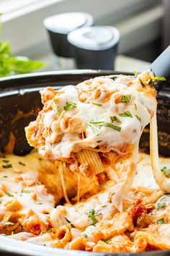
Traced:
[[[169, 158], [160, 158], [160, 162], [161, 169], [169, 170]], [[81, 202], [63, 205], [55, 205], [54, 195], [39, 179], [41, 172], [53, 173], [53, 163], [30, 153], [24, 157], [6, 155], [0, 159], [0, 165], [1, 235], [47, 247], [91, 252], [170, 249], [170, 197], [154, 181], [149, 155], [139, 155], [137, 174], [123, 200], [122, 213], [109, 202], [109, 197], [126, 172], [128, 161], [117, 163], [117, 178], [109, 168], [103, 174], [105, 178], [98, 177], [99, 189], [94, 195], [84, 195]], [[67, 175], [76, 174], [70, 171]], [[55, 195], [60, 195], [61, 180], [56, 169], [54, 177], [58, 186], [50, 186]], [[48, 176], [46, 179], [48, 184]], [[66, 187], [71, 189], [69, 183]], [[73, 196], [69, 192], [68, 195], [71, 200]]]

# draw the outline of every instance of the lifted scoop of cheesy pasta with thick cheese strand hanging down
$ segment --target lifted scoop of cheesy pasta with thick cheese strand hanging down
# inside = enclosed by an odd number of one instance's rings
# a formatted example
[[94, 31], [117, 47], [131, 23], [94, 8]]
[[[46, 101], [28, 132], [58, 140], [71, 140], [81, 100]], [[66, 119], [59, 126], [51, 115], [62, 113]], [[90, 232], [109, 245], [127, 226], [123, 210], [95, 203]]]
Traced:
[[96, 77], [76, 87], [42, 90], [44, 107], [25, 128], [27, 141], [44, 158], [67, 162], [71, 171], [88, 177], [131, 158], [112, 198], [122, 210], [122, 198], [135, 175], [140, 135], [156, 112], [151, 77], [151, 72], [115, 80]]

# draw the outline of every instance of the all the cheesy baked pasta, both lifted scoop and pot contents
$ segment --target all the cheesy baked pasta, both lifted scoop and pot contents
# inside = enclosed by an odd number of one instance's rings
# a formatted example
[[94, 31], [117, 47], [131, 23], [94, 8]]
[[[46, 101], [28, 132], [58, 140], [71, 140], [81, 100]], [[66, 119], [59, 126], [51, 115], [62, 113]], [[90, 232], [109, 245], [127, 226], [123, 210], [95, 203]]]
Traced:
[[[36, 150], [0, 158], [0, 234], [89, 252], [170, 249], [170, 159], [158, 158], [156, 77], [42, 90]], [[151, 157], [138, 153], [151, 127]]]

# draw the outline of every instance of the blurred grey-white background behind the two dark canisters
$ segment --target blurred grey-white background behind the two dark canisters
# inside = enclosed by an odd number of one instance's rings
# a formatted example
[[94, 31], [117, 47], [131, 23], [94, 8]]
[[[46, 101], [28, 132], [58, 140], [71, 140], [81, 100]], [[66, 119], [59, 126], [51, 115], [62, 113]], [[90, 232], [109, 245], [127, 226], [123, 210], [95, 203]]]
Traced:
[[58, 66], [43, 25], [45, 17], [55, 14], [88, 12], [95, 26], [116, 27], [117, 71], [140, 72], [170, 42], [169, 0], [0, 0], [0, 12], [0, 41], [9, 41], [14, 56], [42, 61], [41, 70], [64, 69]]

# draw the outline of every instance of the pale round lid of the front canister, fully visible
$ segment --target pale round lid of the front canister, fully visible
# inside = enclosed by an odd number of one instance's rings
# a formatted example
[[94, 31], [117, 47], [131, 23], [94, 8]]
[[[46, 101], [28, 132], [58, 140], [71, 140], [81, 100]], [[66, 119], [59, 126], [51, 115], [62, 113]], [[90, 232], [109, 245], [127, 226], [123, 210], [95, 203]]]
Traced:
[[68, 42], [73, 46], [91, 51], [112, 48], [119, 40], [120, 33], [112, 26], [81, 27], [68, 34]]

